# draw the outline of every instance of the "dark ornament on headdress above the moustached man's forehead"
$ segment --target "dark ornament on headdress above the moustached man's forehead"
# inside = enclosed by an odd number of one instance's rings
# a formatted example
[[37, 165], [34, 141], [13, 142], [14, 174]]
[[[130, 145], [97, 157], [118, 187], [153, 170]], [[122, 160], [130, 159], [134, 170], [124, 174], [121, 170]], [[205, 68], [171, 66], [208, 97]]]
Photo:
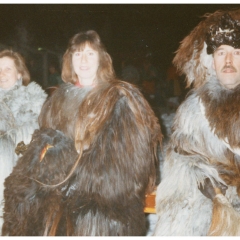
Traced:
[[219, 24], [211, 25], [206, 36], [207, 54], [212, 54], [221, 45], [240, 48], [240, 22], [229, 14], [222, 15]]

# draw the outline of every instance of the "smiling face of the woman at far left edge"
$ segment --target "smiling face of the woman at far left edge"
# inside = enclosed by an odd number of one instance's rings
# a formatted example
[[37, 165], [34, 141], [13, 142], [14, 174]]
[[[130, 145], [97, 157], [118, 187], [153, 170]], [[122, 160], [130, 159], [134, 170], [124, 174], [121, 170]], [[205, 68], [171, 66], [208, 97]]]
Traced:
[[0, 58], [0, 88], [9, 89], [15, 85], [21, 74], [18, 73], [13, 59]]

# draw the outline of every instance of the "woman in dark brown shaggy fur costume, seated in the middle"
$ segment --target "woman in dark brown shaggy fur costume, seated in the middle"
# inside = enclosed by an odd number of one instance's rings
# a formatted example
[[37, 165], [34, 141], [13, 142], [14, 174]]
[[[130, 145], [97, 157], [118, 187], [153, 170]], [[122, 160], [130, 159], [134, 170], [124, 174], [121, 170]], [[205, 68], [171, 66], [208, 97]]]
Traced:
[[70, 40], [62, 79], [5, 181], [3, 235], [145, 235], [162, 140], [157, 117], [138, 88], [115, 78], [95, 31]]

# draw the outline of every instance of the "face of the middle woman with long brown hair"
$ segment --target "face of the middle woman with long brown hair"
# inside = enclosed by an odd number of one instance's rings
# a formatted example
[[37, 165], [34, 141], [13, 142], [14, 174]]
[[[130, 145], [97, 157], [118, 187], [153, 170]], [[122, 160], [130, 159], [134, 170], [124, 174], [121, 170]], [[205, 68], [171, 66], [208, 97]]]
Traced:
[[81, 85], [91, 85], [99, 66], [99, 54], [88, 44], [72, 56], [72, 64]]

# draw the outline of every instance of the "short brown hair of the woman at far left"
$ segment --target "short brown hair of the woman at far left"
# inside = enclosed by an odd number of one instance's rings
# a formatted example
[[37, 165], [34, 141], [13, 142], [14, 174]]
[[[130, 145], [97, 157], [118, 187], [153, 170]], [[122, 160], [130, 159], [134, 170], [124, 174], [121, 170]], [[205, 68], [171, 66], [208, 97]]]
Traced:
[[4, 49], [0, 52], [0, 58], [9, 57], [14, 61], [17, 71], [22, 75], [22, 84], [27, 86], [30, 82], [30, 74], [26, 67], [25, 60], [23, 56], [9, 49]]

